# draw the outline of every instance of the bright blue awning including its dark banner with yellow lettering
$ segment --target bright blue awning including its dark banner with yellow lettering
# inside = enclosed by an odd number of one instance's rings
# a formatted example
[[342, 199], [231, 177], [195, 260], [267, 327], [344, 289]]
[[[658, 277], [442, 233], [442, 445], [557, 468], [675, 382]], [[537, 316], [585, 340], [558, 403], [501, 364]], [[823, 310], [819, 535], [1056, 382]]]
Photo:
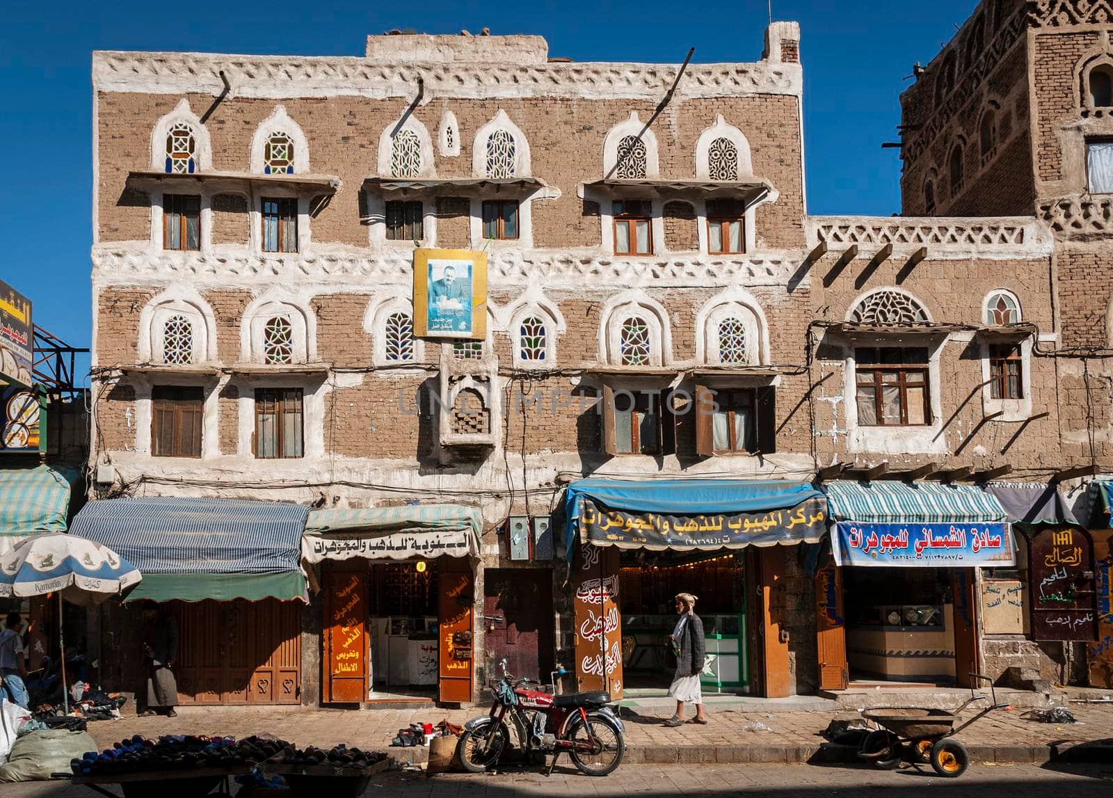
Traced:
[[578, 536], [594, 545], [711, 551], [815, 542], [827, 529], [824, 494], [806, 482], [588, 479], [568, 486], [564, 504], [569, 556]]

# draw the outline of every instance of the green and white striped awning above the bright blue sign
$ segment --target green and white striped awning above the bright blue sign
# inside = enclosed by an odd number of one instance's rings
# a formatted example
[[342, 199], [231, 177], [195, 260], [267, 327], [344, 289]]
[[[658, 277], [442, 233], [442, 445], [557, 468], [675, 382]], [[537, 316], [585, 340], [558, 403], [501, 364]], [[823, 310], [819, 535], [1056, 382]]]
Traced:
[[850, 482], [821, 485], [836, 521], [858, 523], [994, 523], [1007, 521], [992, 494], [940, 482]]

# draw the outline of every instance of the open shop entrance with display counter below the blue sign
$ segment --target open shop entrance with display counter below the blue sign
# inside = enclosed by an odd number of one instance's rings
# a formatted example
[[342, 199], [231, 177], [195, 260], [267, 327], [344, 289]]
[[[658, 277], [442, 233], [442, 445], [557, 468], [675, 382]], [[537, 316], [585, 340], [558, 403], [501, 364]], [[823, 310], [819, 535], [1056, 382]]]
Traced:
[[976, 671], [973, 569], [840, 569], [851, 681], [967, 687]]

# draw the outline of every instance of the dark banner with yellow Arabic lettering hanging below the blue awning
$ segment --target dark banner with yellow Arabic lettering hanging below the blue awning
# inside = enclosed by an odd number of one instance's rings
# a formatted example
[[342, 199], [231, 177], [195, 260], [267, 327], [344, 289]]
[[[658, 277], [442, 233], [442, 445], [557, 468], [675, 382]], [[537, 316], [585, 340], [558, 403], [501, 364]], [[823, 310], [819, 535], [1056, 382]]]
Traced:
[[817, 542], [827, 531], [827, 503], [808, 499], [789, 510], [727, 515], [663, 515], [610, 510], [583, 497], [580, 540], [621, 549], [678, 551]]

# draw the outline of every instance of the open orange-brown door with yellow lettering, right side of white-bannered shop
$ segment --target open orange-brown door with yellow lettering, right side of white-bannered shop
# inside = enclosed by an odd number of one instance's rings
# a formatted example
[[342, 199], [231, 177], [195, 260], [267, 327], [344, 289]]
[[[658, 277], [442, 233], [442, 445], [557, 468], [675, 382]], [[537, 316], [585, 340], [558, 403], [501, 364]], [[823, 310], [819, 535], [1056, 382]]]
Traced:
[[472, 700], [475, 580], [466, 558], [439, 558], [440, 700]]

